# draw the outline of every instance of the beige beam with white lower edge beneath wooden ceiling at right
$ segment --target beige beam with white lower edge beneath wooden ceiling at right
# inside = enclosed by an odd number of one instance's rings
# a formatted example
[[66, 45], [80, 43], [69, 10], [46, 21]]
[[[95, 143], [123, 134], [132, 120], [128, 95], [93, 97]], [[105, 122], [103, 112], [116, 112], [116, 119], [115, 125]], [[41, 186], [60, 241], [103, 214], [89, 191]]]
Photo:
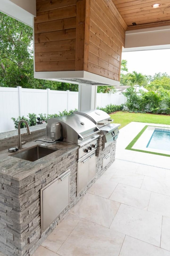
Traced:
[[170, 26], [126, 31], [123, 52], [170, 49]]

